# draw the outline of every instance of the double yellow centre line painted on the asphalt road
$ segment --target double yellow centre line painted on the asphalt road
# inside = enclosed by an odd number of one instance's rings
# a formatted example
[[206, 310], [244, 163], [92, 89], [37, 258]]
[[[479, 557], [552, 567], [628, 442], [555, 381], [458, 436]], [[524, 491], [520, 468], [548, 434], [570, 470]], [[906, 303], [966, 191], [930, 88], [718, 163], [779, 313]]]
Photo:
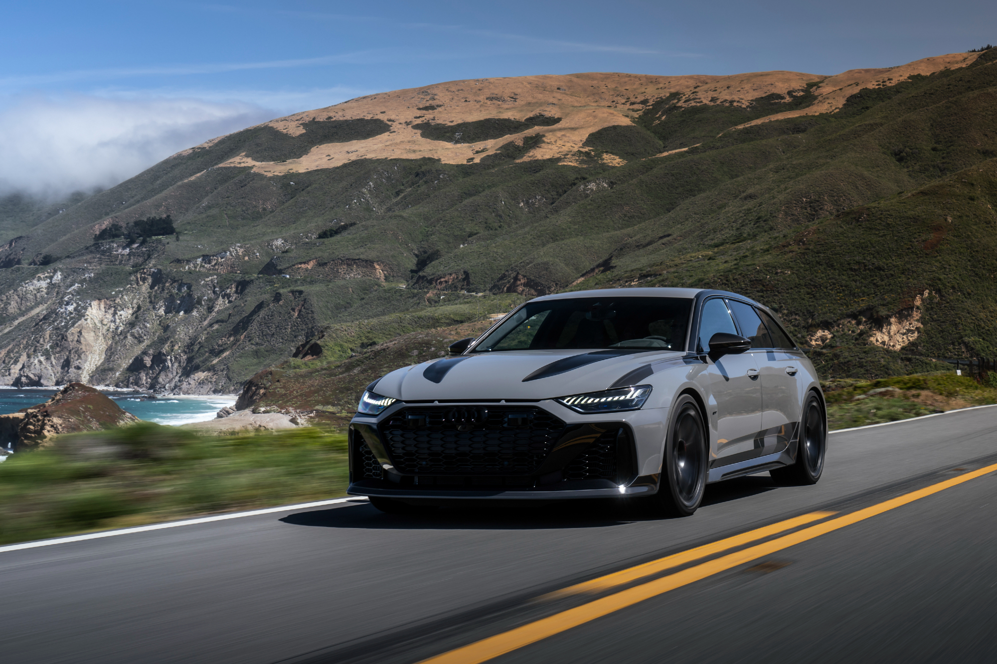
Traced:
[[[446, 652], [442, 655], [430, 657], [429, 659], [425, 659], [420, 662], [420, 664], [478, 664], [479, 662], [486, 662], [490, 659], [498, 657], [499, 655], [511, 652], [523, 646], [529, 645], [530, 643], [535, 643], [541, 639], [545, 639], [548, 636], [559, 634], [560, 632], [571, 629], [572, 627], [577, 627], [578, 625], [582, 625], [591, 620], [595, 620], [596, 618], [608, 615], [614, 611], [626, 608], [627, 606], [633, 606], [634, 604], [642, 602], [645, 599], [656, 597], [657, 595], [668, 592], [669, 590], [674, 590], [675, 588], [680, 588], [683, 585], [688, 585], [693, 581], [704, 579], [708, 576], [712, 576], [713, 574], [737, 567], [745, 562], [757, 560], [758, 558], [769, 555], [770, 553], [781, 551], [785, 548], [789, 548], [790, 546], [795, 546], [801, 542], [808, 541], [809, 539], [814, 539], [815, 537], [820, 537], [821, 535], [837, 530], [838, 528], [843, 528], [845, 525], [857, 523], [858, 521], [875, 516], [876, 514], [881, 514], [884, 511], [895, 509], [896, 507], [913, 502], [914, 500], [937, 494], [938, 492], [945, 491], [946, 489], [961, 485], [964, 482], [969, 482], [970, 480], [987, 475], [988, 473], [993, 473], [994, 471], [997, 471], [997, 464], [966, 473], [965, 475], [952, 478], [951, 480], [946, 480], [945, 482], [939, 482], [938, 484], [925, 487], [924, 489], [919, 489], [915, 492], [910, 492], [909, 494], [904, 494], [903, 496], [899, 496], [897, 498], [891, 498], [889, 500], [879, 502], [878, 504], [865, 507], [864, 509], [859, 509], [836, 518], [831, 518], [761, 544], [749, 546], [747, 548], [734, 551], [733, 553], [728, 553], [727, 555], [707, 560], [706, 562], [687, 567], [686, 569], [668, 574], [667, 576], [662, 576], [625, 590], [614, 592], [611, 595], [594, 599], [590, 602], [582, 604], [581, 606], [576, 606], [574, 608], [567, 609], [566, 611], [555, 613], [549, 617], [541, 618], [540, 620], [530, 622], [522, 625], [521, 627], [510, 629], [507, 632], [502, 632], [496, 636], [482, 639], [481, 641], [466, 645], [462, 648], [451, 650], [450, 652]], [[692, 562], [725, 550], [736, 548], [752, 541], [758, 541], [759, 539], [764, 539], [766, 537], [779, 534], [780, 532], [792, 530], [801, 525], [827, 518], [834, 513], [836, 512], [815, 511], [802, 516], [796, 516], [785, 521], [780, 521], [779, 523], [773, 523], [772, 525], [744, 532], [733, 537], [727, 537], [726, 539], [721, 539], [710, 544], [697, 546], [687, 551], [682, 551], [681, 553], [675, 553], [674, 555], [668, 555], [635, 567], [629, 567], [612, 574], [606, 574], [605, 576], [600, 576], [590, 581], [584, 581], [583, 583], [578, 583], [576, 585], [544, 595], [543, 597], [540, 597], [540, 599], [556, 599], [558, 597], [568, 595], [603, 592], [611, 588], [630, 583], [637, 579], [677, 567], [687, 562]]]

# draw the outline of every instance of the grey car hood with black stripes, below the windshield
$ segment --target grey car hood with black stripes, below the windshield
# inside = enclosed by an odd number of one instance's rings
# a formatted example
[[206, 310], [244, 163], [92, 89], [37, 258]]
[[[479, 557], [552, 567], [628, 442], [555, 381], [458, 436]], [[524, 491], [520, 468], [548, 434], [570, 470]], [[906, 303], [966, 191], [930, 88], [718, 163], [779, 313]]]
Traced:
[[634, 385], [676, 351], [537, 350], [444, 357], [393, 371], [374, 392], [402, 401], [551, 399]]

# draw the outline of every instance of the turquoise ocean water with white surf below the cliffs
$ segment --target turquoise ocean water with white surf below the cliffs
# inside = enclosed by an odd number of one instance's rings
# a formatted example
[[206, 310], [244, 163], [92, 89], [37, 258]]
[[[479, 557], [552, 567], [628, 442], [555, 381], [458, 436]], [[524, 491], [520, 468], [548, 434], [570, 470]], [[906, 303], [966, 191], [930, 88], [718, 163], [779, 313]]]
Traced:
[[[0, 415], [48, 401], [57, 388], [0, 388]], [[143, 401], [136, 392], [104, 391], [115, 403], [140, 420], [157, 424], [181, 425], [213, 420], [218, 409], [235, 404], [236, 395], [165, 396]]]

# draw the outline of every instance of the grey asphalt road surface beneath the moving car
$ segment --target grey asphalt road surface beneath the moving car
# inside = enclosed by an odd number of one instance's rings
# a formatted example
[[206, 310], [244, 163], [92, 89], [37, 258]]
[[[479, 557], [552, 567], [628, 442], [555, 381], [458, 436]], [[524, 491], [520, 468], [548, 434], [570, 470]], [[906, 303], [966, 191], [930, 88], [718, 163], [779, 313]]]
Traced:
[[[983, 408], [832, 434], [817, 486], [777, 488], [767, 477], [712, 485], [688, 518], [576, 501], [413, 519], [357, 501], [3, 551], [0, 659], [414, 663], [600, 596], [536, 599], [545, 593], [993, 464], [997, 408]], [[491, 661], [846, 659], [997, 661], [997, 474]]]

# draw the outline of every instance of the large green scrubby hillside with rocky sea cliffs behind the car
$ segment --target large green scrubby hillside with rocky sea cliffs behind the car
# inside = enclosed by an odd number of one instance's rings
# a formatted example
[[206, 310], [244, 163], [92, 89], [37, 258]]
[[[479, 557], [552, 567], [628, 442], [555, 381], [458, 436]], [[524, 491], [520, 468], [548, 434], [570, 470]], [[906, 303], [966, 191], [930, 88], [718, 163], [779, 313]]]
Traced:
[[[401, 116], [313, 120], [295, 136], [259, 126], [62, 213], [10, 203], [0, 236], [19, 237], [0, 249], [0, 383], [231, 392], [305, 342], [322, 355], [294, 360], [292, 374], [351, 356], [363, 372], [365, 349], [399, 334], [537, 294], [638, 284], [756, 297], [829, 376], [994, 357], [995, 61], [987, 51], [855, 88], [833, 113], [745, 129], [731, 128], [806, 110], [812, 85], [741, 106], [634, 100], [570, 159], [530, 158], [573, 122], [535, 110], [406, 121], [433, 143], [492, 142], [469, 146], [466, 164], [364, 159]], [[279, 174], [219, 166], [333, 144], [356, 145], [356, 159]], [[112, 223], [166, 214], [175, 235], [95, 241]]]

